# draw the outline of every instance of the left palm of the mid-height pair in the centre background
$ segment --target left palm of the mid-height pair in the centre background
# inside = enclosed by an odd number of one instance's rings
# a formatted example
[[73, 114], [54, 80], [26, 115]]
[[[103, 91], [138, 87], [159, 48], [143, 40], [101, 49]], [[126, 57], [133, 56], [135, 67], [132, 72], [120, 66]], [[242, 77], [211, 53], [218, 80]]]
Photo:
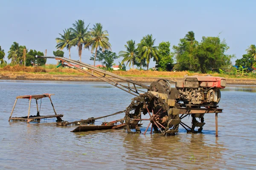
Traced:
[[134, 40], [129, 40], [126, 42], [127, 45], [125, 45], [126, 51], [120, 51], [119, 52], [119, 57], [124, 57], [124, 59], [121, 62], [121, 65], [127, 61], [126, 65], [129, 63], [129, 67], [131, 67], [132, 63], [132, 68], [134, 69], [134, 60], [137, 58], [137, 48], [135, 47], [135, 41]]

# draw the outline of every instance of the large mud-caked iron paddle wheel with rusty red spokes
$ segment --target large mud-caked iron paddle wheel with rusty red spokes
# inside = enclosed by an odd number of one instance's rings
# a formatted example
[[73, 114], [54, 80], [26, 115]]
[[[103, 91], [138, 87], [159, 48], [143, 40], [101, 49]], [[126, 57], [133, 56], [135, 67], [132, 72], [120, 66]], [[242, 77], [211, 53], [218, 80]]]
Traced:
[[[134, 110], [134, 113], [130, 111]], [[149, 119], [141, 119], [141, 112], [148, 114]], [[137, 126], [140, 120], [149, 120], [149, 124], [143, 134], [146, 134], [149, 127], [150, 133], [161, 133], [162, 135], [175, 135], [178, 132], [179, 116], [173, 115], [165, 100], [157, 98], [151, 93], [145, 93], [133, 99], [131, 105], [126, 108], [125, 124], [128, 133], [132, 133], [130, 127], [135, 127], [136, 132], [140, 132]]]

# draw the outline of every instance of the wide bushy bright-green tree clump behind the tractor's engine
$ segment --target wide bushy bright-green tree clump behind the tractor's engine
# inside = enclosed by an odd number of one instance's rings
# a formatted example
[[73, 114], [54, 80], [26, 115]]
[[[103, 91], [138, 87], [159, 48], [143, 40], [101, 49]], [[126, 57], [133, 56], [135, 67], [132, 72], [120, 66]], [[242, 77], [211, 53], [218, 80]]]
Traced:
[[179, 71], [199, 71], [206, 73], [212, 69], [227, 68], [231, 65], [234, 55], [227, 55], [229, 49], [225, 40], [219, 37], [202, 37], [198, 43], [191, 44], [186, 38], [180, 39], [177, 46], [173, 46]]

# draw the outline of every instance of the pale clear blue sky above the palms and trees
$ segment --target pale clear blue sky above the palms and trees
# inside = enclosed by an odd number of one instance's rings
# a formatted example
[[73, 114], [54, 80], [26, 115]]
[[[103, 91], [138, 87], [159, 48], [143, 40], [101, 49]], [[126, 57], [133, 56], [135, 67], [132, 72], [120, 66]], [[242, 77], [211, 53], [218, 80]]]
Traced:
[[[198, 42], [203, 36], [225, 39], [230, 47], [227, 54], [236, 55], [234, 63], [249, 45], [256, 44], [255, 6], [254, 0], [0, 0], [0, 46], [8, 62], [13, 42], [29, 50], [47, 49], [47, 56], [53, 56], [58, 33], [84, 20], [89, 28], [102, 23], [116, 54], [125, 51], [128, 40], [139, 43], [147, 34], [153, 35], [156, 46], [169, 41], [172, 48], [188, 31], [194, 31]], [[68, 51], [64, 52], [68, 57]], [[93, 65], [91, 56], [84, 49], [82, 62]], [[76, 47], [71, 48], [71, 58], [79, 59]], [[122, 58], [115, 63], [119, 61]], [[56, 62], [48, 59], [47, 63]], [[151, 60], [149, 67], [154, 65]]]

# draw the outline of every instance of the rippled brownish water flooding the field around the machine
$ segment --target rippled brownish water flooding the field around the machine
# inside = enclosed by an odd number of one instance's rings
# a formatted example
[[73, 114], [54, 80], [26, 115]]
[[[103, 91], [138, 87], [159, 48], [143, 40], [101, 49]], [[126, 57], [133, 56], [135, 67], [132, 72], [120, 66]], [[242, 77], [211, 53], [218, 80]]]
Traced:
[[[124, 110], [133, 97], [103, 83], [0, 81], [0, 169], [256, 168], [256, 86], [233, 85], [222, 91], [218, 138], [213, 114], [205, 116], [204, 133], [188, 134], [180, 127], [177, 136], [131, 135], [125, 130], [70, 133], [75, 127], [56, 127], [55, 119], [8, 122], [16, 96], [43, 93], [55, 94], [55, 109], [67, 121]], [[28, 104], [27, 99], [18, 100], [13, 116], [27, 115]], [[42, 99], [40, 114], [53, 114], [48, 99]], [[141, 129], [146, 126], [143, 122]]]

